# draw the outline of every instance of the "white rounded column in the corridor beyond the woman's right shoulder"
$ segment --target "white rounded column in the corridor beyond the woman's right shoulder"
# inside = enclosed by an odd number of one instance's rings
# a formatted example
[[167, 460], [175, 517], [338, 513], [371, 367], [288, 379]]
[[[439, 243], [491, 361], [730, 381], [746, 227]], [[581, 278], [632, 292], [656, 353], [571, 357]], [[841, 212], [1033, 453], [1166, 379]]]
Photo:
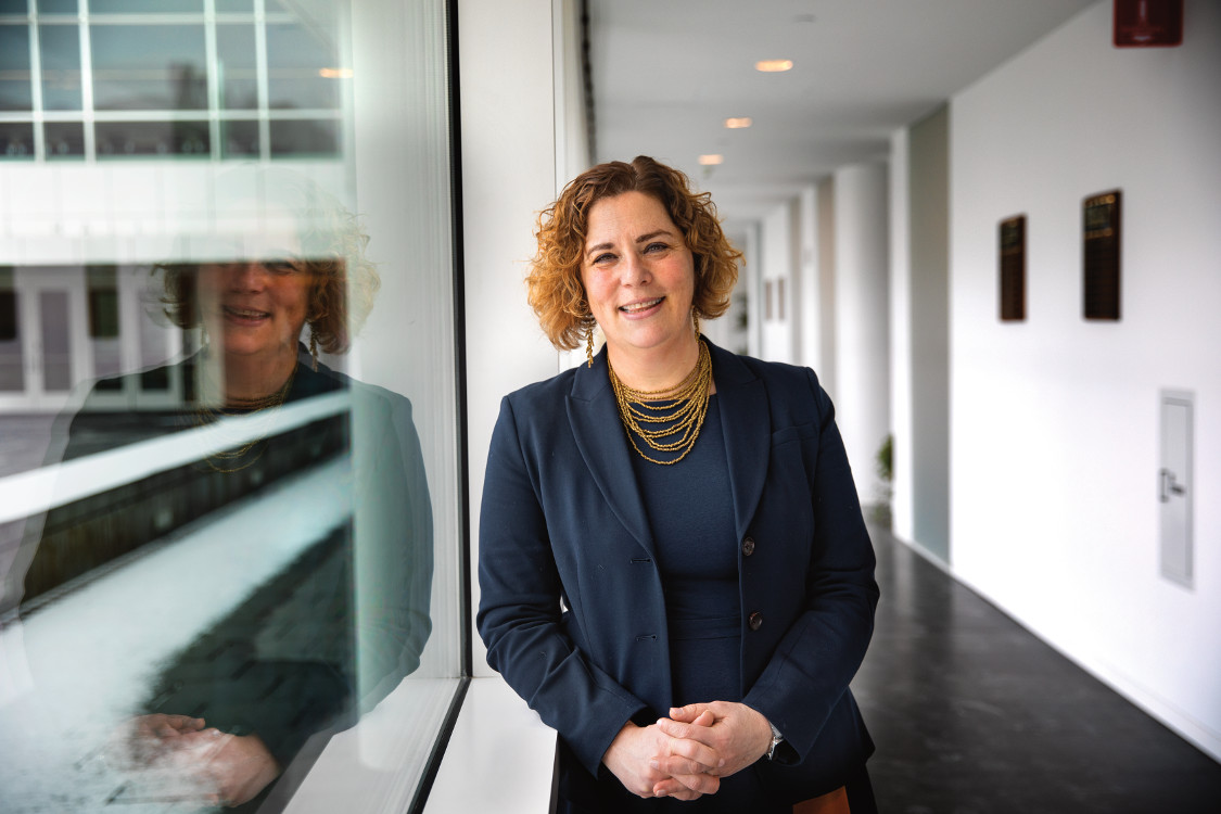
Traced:
[[835, 421], [862, 503], [890, 431], [886, 183], [884, 162], [835, 172]]

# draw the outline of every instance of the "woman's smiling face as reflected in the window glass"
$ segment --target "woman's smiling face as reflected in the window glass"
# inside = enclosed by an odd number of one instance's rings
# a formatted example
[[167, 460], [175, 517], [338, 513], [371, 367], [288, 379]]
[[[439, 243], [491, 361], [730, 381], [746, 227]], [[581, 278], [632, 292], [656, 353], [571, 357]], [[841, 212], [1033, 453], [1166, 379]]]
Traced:
[[214, 343], [230, 358], [297, 353], [309, 312], [311, 276], [291, 228], [252, 236], [245, 260], [203, 264], [199, 306]]

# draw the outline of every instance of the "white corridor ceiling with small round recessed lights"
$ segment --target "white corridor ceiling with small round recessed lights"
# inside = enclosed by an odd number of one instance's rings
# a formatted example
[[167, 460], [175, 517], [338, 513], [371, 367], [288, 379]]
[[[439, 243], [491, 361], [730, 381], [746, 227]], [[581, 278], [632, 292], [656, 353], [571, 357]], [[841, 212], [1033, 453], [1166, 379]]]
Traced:
[[[756, 220], [1095, 1], [589, 0], [595, 159], [652, 155]], [[724, 164], [701, 167], [709, 153]]]

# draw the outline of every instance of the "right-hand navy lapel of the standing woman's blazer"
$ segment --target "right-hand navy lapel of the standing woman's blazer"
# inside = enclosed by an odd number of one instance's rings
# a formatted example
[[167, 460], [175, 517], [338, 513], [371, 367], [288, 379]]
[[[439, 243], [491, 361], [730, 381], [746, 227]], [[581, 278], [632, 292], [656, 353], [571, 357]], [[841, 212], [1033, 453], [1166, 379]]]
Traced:
[[750, 367], [711, 342], [708, 349], [712, 351], [712, 375], [717, 382], [720, 425], [725, 434], [734, 519], [737, 521], [737, 539], [741, 539], [755, 516], [767, 480], [772, 453], [770, 410], [763, 381]]

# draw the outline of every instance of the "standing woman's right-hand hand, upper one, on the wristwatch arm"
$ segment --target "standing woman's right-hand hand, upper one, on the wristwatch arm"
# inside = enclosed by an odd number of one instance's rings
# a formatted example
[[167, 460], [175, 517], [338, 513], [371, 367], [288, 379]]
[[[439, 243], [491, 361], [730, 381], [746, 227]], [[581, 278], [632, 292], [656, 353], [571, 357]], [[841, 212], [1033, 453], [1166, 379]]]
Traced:
[[668, 719], [657, 721], [657, 729], [673, 738], [711, 748], [717, 754], [713, 771], [722, 777], [751, 765], [772, 746], [772, 725], [763, 714], [726, 701], [676, 707]]

